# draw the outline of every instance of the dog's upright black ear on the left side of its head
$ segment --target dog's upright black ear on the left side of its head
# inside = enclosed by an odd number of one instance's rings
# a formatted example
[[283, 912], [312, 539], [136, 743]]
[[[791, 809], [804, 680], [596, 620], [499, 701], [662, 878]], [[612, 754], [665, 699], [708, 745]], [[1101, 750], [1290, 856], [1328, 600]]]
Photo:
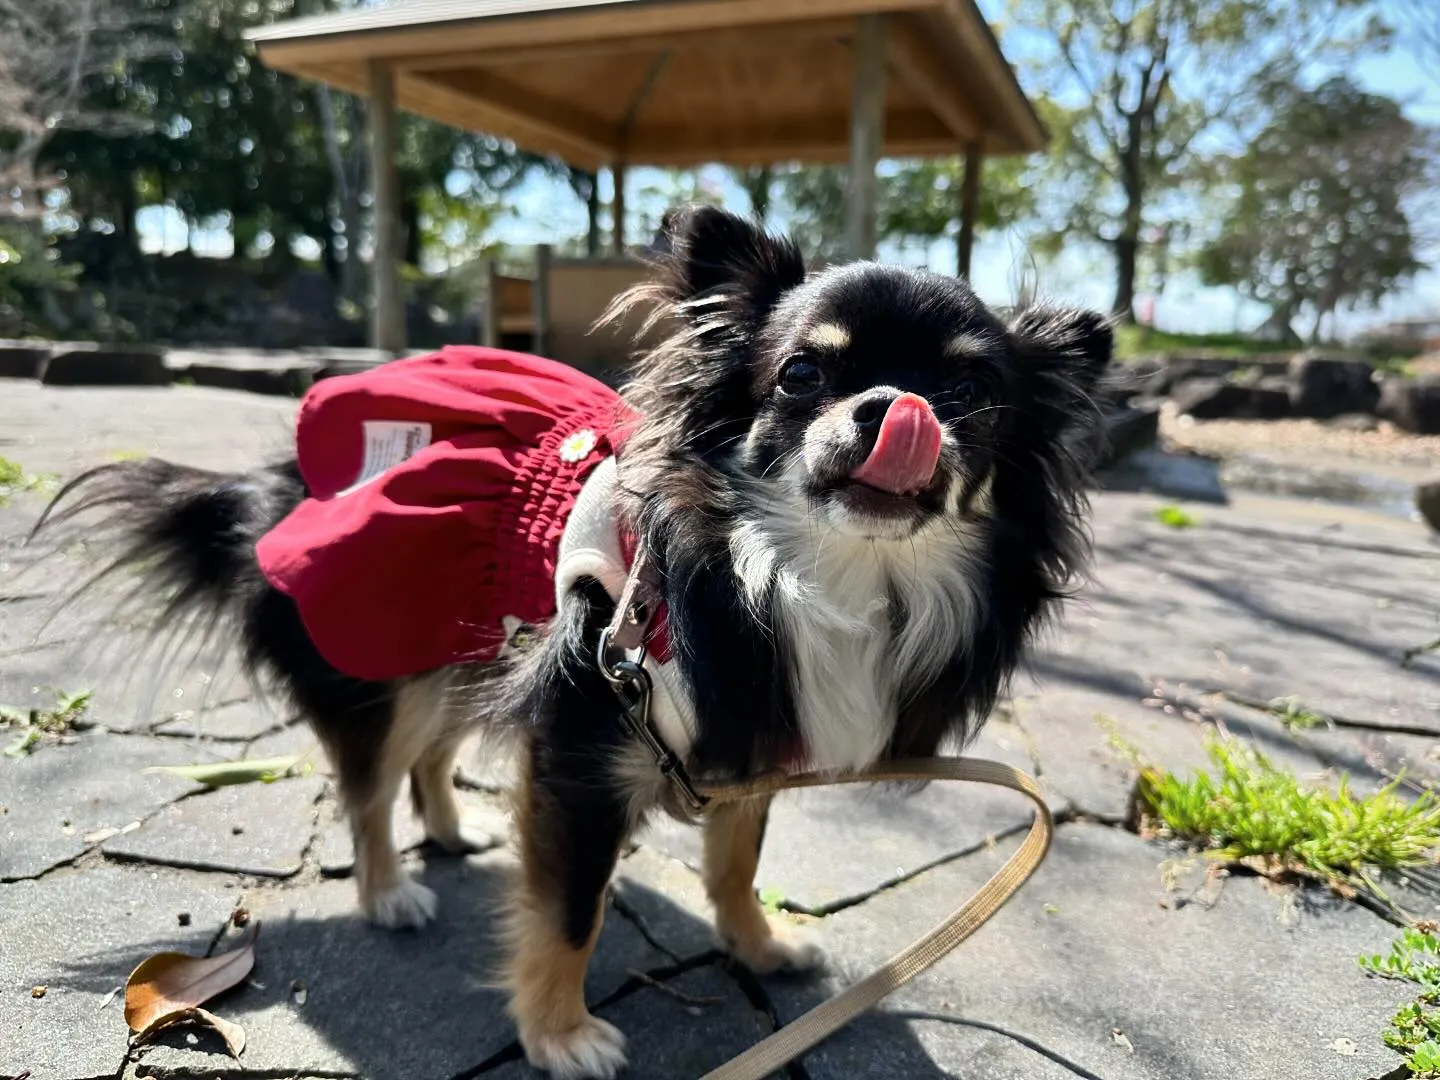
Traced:
[[693, 301], [723, 297], [736, 314], [759, 318], [805, 279], [793, 240], [719, 207], [671, 209], [661, 229], [670, 249], [670, 298], [697, 315], [706, 305]]

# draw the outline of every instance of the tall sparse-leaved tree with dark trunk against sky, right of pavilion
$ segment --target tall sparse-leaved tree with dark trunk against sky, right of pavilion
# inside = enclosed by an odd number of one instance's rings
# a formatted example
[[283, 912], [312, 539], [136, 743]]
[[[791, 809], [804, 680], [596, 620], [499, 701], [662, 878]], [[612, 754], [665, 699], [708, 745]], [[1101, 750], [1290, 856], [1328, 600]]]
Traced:
[[[1115, 312], [1135, 320], [1151, 238], [1207, 140], [1244, 140], [1274, 88], [1310, 60], [1371, 40], [1365, 0], [1011, 0], [1038, 42], [1053, 132], [1051, 249], [1077, 239], [1115, 261]], [[1349, 16], [1355, 14], [1354, 24]]]

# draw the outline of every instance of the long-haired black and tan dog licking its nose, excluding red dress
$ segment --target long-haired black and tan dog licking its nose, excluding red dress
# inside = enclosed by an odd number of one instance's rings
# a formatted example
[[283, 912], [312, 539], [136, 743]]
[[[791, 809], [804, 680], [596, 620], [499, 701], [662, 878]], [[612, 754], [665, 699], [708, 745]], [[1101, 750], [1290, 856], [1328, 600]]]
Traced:
[[[50, 514], [99, 516], [88, 536], [145, 569], [163, 618], [228, 626], [314, 724], [377, 923], [435, 909], [392, 841], [406, 776], [429, 837], [461, 851], [456, 746], [477, 727], [517, 740], [511, 1014], [531, 1063], [557, 1077], [624, 1066], [624, 1038], [586, 1009], [585, 971], [626, 835], [684, 809], [596, 660], [625, 579], [621, 533], [644, 543], [667, 608], [654, 727], [714, 779], [963, 742], [1086, 550], [1076, 448], [1110, 357], [1103, 317], [1037, 308], [1007, 323], [955, 278], [876, 264], [808, 275], [791, 242], [732, 215], [668, 222], [655, 279], [626, 300], [665, 327], [625, 392], [642, 419], [586, 481], [559, 611], [518, 654], [392, 681], [328, 664], [255, 556], [307, 497], [294, 464], [122, 462]], [[815, 959], [756, 900], [765, 819], [757, 801], [703, 824], [717, 929], [762, 972]]]

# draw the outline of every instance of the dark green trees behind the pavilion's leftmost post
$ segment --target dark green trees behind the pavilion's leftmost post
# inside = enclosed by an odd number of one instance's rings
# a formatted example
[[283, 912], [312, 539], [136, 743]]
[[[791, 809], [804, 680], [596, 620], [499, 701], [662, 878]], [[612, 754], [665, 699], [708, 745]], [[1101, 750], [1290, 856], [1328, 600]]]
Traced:
[[[347, 278], [347, 291], [357, 294], [357, 262], [348, 253], [369, 228], [364, 102], [266, 68], [243, 40], [251, 26], [338, 4], [109, 1], [128, 4], [135, 22], [157, 27], [160, 48], [92, 76], [89, 99], [143, 118], [148, 130], [120, 137], [72, 131], [50, 140], [46, 156], [63, 170], [75, 216], [86, 228], [114, 228], [131, 249], [135, 210], [156, 203], [173, 206], [192, 225], [226, 225], [238, 256], [264, 240], [284, 262], [310, 239], [331, 275]], [[500, 140], [402, 114], [397, 164], [405, 256], [419, 264], [426, 239], [454, 229], [455, 200], [494, 207], [536, 161]], [[442, 220], [426, 207], [444, 210]]]

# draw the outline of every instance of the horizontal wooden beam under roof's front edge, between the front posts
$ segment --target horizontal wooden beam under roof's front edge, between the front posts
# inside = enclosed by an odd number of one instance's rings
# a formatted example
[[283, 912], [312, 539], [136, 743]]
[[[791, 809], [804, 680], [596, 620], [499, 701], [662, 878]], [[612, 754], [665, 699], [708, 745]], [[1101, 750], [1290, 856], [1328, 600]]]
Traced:
[[402, 56], [395, 66], [396, 71], [433, 71], [454, 68], [456, 60], [464, 60], [477, 68], [504, 69], [531, 63], [603, 59], [606, 56], [648, 56], [658, 52], [747, 52], [756, 43], [785, 46], [816, 37], [848, 37], [852, 27], [852, 19], [811, 19], [760, 29], [649, 33], [631, 37], [560, 42], [557, 45], [488, 48], [485, 43], [459, 53], [455, 49], [445, 49], [419, 56]]

